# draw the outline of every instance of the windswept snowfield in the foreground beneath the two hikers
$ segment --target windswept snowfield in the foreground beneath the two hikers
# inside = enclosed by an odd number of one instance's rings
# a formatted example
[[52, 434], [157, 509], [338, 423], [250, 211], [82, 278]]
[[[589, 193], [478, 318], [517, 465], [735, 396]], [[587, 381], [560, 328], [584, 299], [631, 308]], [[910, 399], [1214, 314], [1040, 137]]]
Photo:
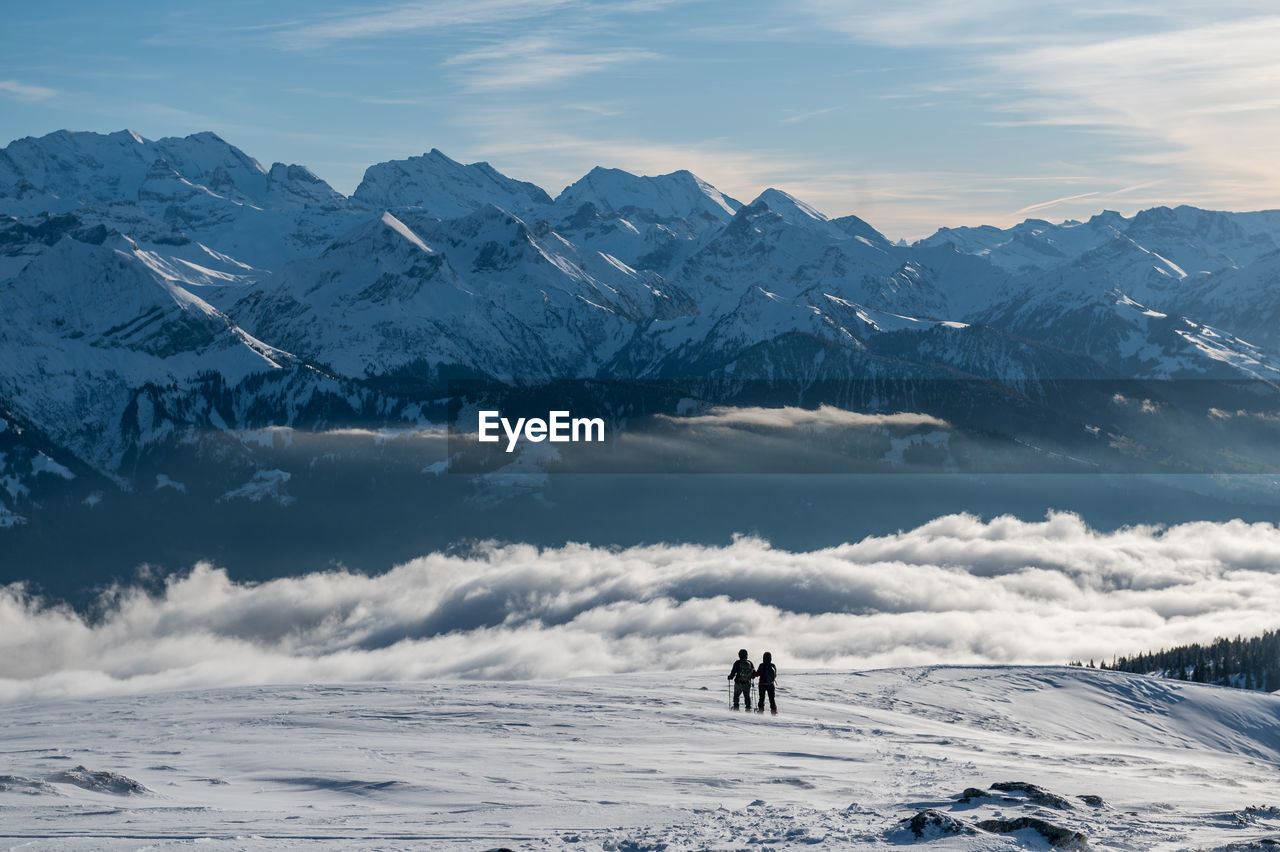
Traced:
[[1280, 842], [1280, 696], [1015, 667], [783, 670], [776, 718], [727, 695], [699, 672], [12, 705], [0, 848], [1048, 848], [974, 828], [1023, 817], [1092, 848]]

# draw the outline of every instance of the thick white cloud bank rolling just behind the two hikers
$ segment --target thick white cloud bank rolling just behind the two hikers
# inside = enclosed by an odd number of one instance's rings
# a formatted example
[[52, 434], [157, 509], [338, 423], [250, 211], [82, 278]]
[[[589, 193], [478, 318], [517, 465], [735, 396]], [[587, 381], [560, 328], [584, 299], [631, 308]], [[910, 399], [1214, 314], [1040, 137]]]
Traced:
[[946, 516], [790, 553], [727, 546], [431, 554], [369, 577], [238, 583], [207, 564], [86, 620], [0, 590], [0, 701], [271, 682], [553, 678], [1110, 659], [1280, 623], [1280, 528], [1091, 530]]

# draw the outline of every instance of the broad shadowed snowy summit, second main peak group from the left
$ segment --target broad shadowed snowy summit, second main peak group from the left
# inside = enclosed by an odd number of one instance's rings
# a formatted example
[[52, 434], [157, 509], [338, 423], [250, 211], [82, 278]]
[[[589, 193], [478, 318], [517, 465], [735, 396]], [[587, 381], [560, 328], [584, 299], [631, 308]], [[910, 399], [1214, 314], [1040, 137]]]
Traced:
[[552, 203], [531, 183], [508, 178], [488, 162], [462, 165], [439, 148], [369, 166], [352, 201], [378, 210], [416, 207], [438, 219], [465, 216], [485, 203], [521, 214]]

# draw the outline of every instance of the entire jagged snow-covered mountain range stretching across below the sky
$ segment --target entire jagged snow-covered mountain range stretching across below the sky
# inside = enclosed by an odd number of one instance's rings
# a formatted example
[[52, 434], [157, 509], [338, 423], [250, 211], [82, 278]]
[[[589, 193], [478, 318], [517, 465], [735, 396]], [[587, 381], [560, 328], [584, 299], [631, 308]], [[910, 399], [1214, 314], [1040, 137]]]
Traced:
[[[279, 438], [264, 430], [429, 429], [457, 379], [672, 383], [988, 432], [1005, 400], [1010, 446], [1184, 459], [1106, 383], [1215, 380], [1233, 390], [1198, 398], [1197, 429], [1268, 429], [1277, 284], [1280, 211], [905, 246], [689, 171], [598, 168], [552, 198], [433, 150], [348, 198], [212, 133], [58, 132], [0, 150], [0, 526], [59, 495], [179, 493], [177, 457], [234, 471], [220, 496], [287, 500], [292, 473], [255, 457]], [[1079, 380], [1107, 390], [1064, 403]], [[1275, 469], [1260, 452], [1242, 469]]]

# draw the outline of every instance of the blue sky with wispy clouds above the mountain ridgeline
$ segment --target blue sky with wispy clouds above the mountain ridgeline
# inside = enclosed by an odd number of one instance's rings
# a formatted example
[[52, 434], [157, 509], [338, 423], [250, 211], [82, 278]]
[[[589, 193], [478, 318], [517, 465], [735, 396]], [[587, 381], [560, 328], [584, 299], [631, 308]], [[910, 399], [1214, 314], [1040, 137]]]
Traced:
[[1280, 207], [1265, 3], [10, 4], [0, 137], [211, 129], [342, 192], [438, 147], [552, 194], [594, 165], [778, 187], [891, 237]]

